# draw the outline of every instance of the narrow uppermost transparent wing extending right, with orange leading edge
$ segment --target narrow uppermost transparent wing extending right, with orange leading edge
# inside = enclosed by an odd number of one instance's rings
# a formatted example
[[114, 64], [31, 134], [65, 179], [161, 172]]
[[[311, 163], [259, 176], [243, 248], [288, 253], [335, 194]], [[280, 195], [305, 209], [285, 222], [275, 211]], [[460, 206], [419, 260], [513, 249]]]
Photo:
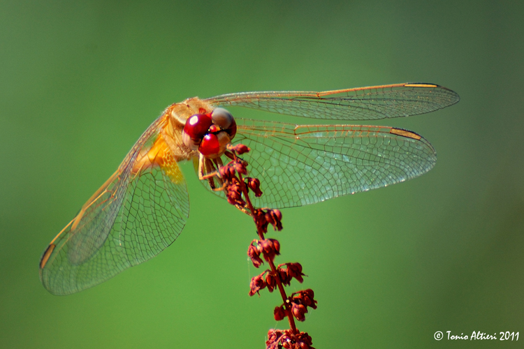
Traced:
[[324, 92], [266, 91], [205, 99], [215, 106], [240, 106], [314, 119], [375, 120], [424, 114], [453, 105], [458, 94], [436, 84], [406, 83]]

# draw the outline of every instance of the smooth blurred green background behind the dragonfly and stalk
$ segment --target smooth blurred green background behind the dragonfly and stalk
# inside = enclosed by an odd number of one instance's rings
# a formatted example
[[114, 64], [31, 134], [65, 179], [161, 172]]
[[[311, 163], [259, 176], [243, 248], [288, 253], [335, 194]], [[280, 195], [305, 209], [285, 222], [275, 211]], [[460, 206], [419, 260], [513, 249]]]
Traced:
[[[518, 1], [1, 1], [0, 347], [263, 348], [252, 221], [183, 165], [187, 227], [149, 262], [50, 295], [44, 248], [170, 103], [235, 91], [433, 82], [458, 105], [377, 124], [421, 133], [428, 174], [284, 210], [316, 348], [524, 341], [524, 6]], [[308, 119], [232, 109], [237, 117]], [[436, 331], [521, 332], [518, 342]]]

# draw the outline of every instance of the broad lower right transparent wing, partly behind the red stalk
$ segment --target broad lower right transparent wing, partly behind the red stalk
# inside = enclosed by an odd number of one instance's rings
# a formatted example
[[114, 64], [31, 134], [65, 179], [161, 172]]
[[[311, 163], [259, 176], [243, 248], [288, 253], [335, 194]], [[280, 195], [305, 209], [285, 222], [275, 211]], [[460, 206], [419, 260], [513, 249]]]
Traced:
[[237, 123], [235, 142], [251, 148], [242, 155], [248, 175], [261, 181], [263, 195], [252, 197], [256, 207], [310, 205], [388, 186], [428, 172], [437, 160], [427, 140], [400, 128]]

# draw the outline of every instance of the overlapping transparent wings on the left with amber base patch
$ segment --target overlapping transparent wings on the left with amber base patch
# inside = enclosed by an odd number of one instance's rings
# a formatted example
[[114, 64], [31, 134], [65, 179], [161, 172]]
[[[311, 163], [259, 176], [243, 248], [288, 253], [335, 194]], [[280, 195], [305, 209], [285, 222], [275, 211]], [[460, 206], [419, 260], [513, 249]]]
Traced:
[[40, 262], [45, 288], [67, 295], [160, 253], [189, 216], [180, 168], [163, 140], [165, 118], [136, 142], [115, 174], [53, 239]]

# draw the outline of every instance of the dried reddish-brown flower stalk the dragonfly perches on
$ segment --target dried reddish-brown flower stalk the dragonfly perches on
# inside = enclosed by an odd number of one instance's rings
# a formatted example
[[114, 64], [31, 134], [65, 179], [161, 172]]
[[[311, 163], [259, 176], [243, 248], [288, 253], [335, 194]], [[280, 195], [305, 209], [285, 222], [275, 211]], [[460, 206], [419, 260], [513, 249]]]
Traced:
[[[259, 268], [263, 262], [267, 262], [270, 269], [266, 269], [261, 274], [254, 276], [249, 285], [249, 295], [259, 294], [264, 288], [269, 292], [278, 288], [282, 297], [282, 304], [276, 306], [273, 311], [275, 320], [287, 318], [290, 329], [270, 329], [268, 341], [265, 342], [268, 349], [314, 349], [311, 337], [300, 332], [296, 328], [295, 320], [304, 321], [308, 307], [316, 309], [314, 292], [311, 289], [294, 292], [291, 296], [286, 295], [284, 286], [290, 285], [292, 279], [302, 283], [302, 265], [297, 262], [288, 262], [275, 266], [275, 257], [280, 254], [280, 244], [276, 239], [265, 238], [268, 232], [268, 225], [272, 225], [274, 230], [282, 230], [282, 213], [278, 209], [259, 209], [252, 205], [249, 199], [249, 191], [258, 198], [263, 195], [260, 188], [260, 181], [256, 178], [243, 177], [247, 174], [248, 163], [239, 156], [249, 151], [243, 144], [235, 146], [228, 145], [225, 155], [231, 158], [226, 165], [219, 166], [215, 175], [219, 176], [224, 183], [224, 191], [228, 202], [240, 211], [252, 216], [256, 225], [256, 232], [259, 239], [254, 239], [247, 248], [247, 255], [252, 260], [254, 267]], [[262, 255], [262, 258], [261, 258]]]

